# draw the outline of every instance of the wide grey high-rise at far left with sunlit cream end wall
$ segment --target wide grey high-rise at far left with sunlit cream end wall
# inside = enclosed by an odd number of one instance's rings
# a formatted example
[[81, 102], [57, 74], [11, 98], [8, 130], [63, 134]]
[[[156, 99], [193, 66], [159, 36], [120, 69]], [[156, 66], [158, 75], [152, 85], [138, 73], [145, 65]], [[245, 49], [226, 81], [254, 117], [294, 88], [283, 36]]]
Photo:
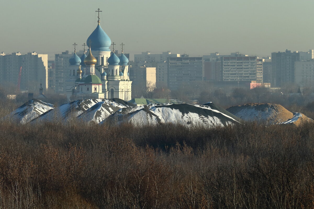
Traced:
[[20, 89], [34, 91], [42, 83], [43, 89], [48, 89], [48, 55], [37, 54], [35, 51], [26, 55], [0, 53], [0, 82], [18, 84], [21, 70]]

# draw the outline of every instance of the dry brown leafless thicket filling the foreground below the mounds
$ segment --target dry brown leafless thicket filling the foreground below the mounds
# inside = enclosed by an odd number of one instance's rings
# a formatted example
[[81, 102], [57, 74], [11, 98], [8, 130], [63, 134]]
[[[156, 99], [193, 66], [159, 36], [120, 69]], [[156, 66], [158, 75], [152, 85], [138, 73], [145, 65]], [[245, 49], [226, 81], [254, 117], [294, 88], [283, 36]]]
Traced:
[[0, 208], [313, 208], [314, 124], [2, 122]]

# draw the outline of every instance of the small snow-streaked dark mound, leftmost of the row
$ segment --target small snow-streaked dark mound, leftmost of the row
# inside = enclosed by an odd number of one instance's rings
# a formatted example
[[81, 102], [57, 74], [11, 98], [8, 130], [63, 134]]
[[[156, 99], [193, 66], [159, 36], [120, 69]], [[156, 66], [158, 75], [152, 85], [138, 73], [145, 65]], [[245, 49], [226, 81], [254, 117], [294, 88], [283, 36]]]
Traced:
[[42, 102], [38, 99], [31, 99], [22, 106], [11, 112], [6, 118], [10, 118], [18, 123], [28, 123], [35, 118], [38, 118], [46, 112], [53, 110], [53, 105]]

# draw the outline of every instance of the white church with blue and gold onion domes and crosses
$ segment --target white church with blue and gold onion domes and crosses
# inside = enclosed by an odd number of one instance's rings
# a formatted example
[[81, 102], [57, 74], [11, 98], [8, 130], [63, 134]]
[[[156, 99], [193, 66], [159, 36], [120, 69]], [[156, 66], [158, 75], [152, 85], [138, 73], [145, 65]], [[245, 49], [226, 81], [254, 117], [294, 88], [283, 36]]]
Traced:
[[[87, 46], [89, 50], [79, 57], [74, 54], [69, 59], [69, 75], [66, 79], [66, 95], [68, 101], [78, 99], [112, 99], [120, 98], [125, 101], [131, 100], [131, 84], [129, 78], [129, 60], [122, 53], [118, 57], [115, 54], [114, 42], [100, 27], [98, 8], [98, 25], [89, 35]], [[111, 52], [110, 46], [113, 46]], [[84, 44], [85, 46], [85, 44]], [[87, 53], [87, 55], [86, 55]]]

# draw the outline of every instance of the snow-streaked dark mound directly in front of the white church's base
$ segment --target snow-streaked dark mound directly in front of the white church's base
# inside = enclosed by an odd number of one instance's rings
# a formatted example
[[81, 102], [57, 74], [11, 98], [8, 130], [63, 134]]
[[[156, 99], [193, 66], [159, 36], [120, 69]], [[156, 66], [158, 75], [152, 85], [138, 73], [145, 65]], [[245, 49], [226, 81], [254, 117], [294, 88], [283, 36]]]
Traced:
[[[82, 99], [62, 104], [54, 110], [42, 114], [36, 118], [39, 121], [56, 121], [58, 119], [68, 120], [77, 118], [85, 122], [94, 121], [100, 123], [109, 115], [123, 107], [134, 107], [132, 103], [122, 99]], [[35, 120], [34, 120], [35, 122]]]

